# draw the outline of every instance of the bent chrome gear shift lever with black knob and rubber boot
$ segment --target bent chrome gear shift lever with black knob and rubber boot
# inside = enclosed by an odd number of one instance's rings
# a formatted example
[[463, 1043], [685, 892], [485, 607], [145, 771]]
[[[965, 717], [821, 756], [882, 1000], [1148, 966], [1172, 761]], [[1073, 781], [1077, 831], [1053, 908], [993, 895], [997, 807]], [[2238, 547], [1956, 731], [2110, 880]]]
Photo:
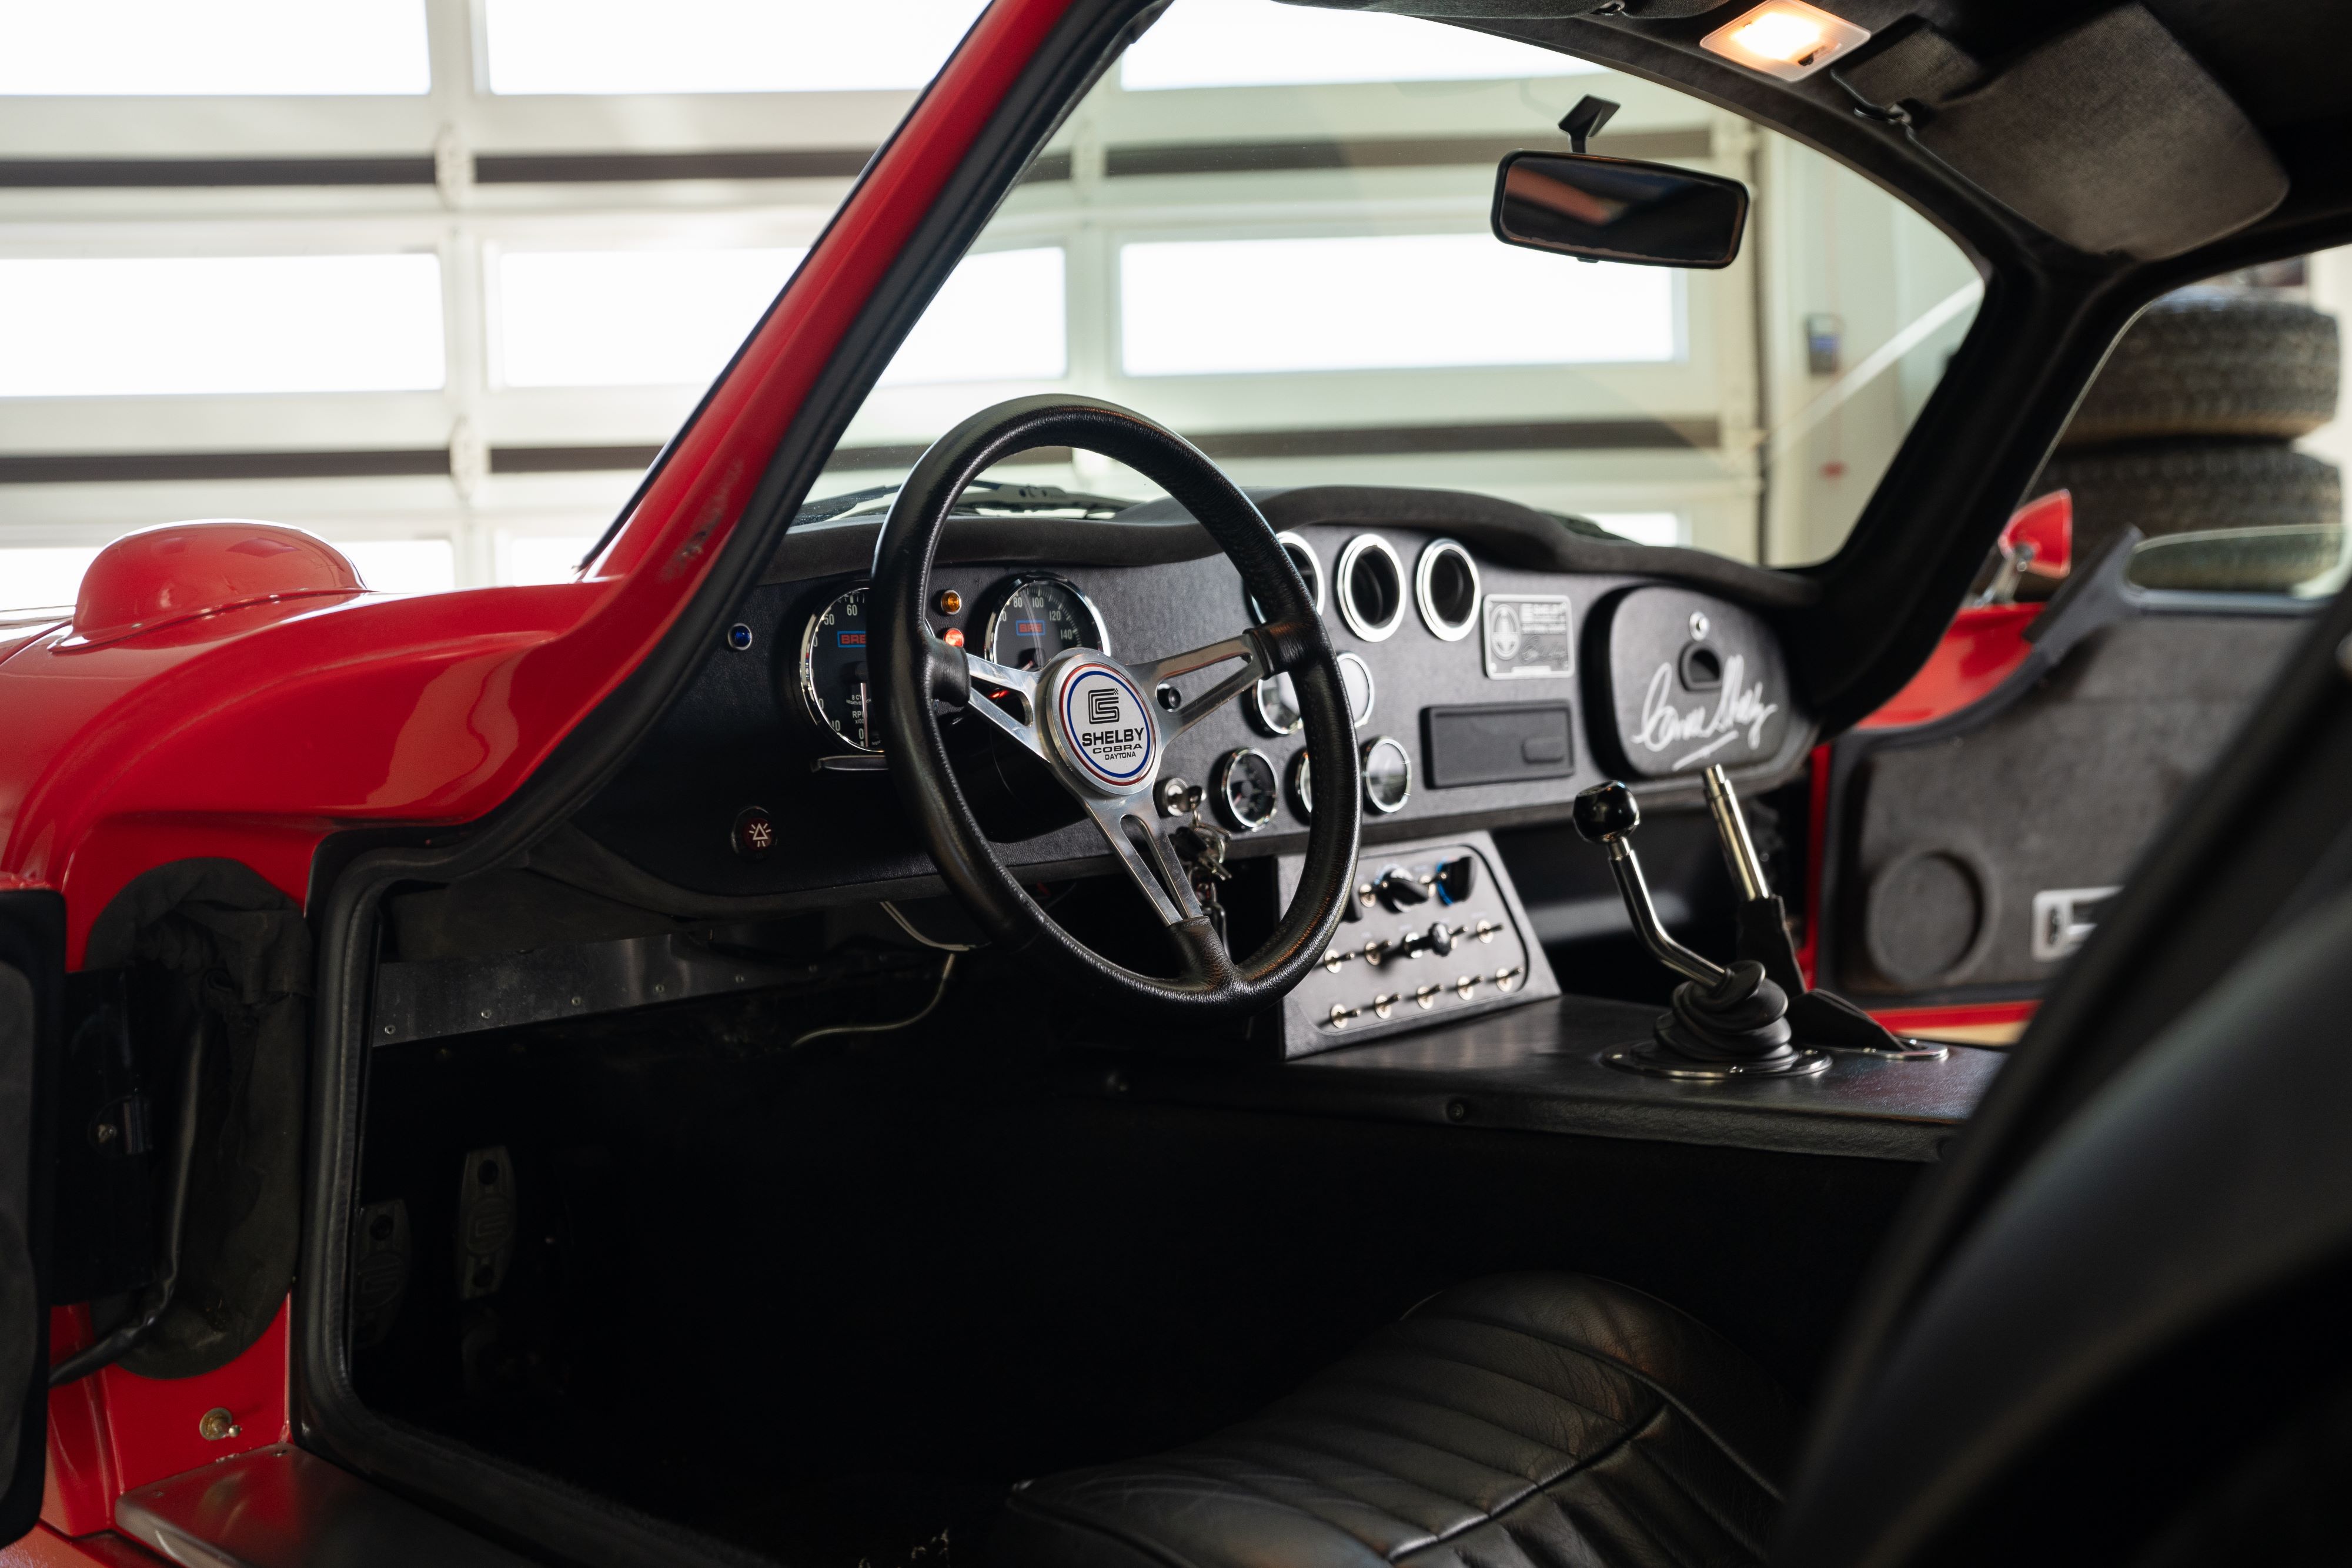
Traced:
[[1606, 1051], [1602, 1060], [1670, 1079], [1790, 1077], [1828, 1067], [1828, 1056], [1790, 1041], [1788, 992], [1764, 973], [1764, 964], [1738, 959], [1724, 969], [1668, 936], [1642, 877], [1642, 856], [1632, 849], [1639, 825], [1639, 802], [1616, 780], [1576, 797], [1576, 832], [1609, 851], [1635, 936], [1651, 957], [1686, 978], [1649, 1044]]

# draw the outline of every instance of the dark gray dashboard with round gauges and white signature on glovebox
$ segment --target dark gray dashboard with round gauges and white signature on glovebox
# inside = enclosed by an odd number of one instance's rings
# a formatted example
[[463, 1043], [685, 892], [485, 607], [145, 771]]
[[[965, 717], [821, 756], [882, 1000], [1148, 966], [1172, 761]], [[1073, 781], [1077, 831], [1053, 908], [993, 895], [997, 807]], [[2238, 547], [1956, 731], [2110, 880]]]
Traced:
[[[1813, 738], [1757, 609], [1788, 592], [1790, 578], [1576, 534], [1557, 517], [1477, 496], [1317, 489], [1261, 496], [1261, 508], [1319, 562], [1334, 646], [1371, 675], [1359, 741], [1395, 738], [1411, 762], [1402, 809], [1367, 809], [1367, 844], [1559, 818], [1602, 778], [1630, 778], [1651, 797], [1696, 795], [1712, 762], [1771, 785]], [[579, 818], [590, 837], [696, 893], [816, 905], [929, 882], [931, 863], [884, 759], [854, 755], [811, 722], [797, 691], [804, 632], [866, 578], [877, 531], [868, 517], [786, 536], [727, 646], [710, 651], [633, 764]], [[1404, 574], [1402, 614], [1385, 637], [1367, 637], [1338, 607], [1338, 562], [1367, 534], [1385, 541]], [[1437, 541], [1456, 541], [1475, 562], [1477, 611], [1456, 637], [1432, 630], [1414, 602], [1414, 569]], [[960, 609], [934, 614], [934, 630], [981, 646], [1004, 585], [1037, 574], [1084, 592], [1117, 658], [1176, 654], [1251, 618], [1230, 562], [1197, 524], [1157, 503], [1112, 520], [950, 522], [934, 592], [953, 590]], [[1176, 684], [1190, 698], [1218, 675]], [[1301, 743], [1268, 733], [1247, 701], [1228, 703], [1169, 748], [1162, 778], [1207, 783], [1242, 748], [1287, 780]], [[771, 823], [764, 851], [743, 839], [753, 818]], [[1272, 820], [1237, 835], [1232, 853], [1303, 844], [1301, 804], [1282, 790]], [[1037, 877], [1110, 865], [1084, 823], [1000, 842], [1000, 851]]]

